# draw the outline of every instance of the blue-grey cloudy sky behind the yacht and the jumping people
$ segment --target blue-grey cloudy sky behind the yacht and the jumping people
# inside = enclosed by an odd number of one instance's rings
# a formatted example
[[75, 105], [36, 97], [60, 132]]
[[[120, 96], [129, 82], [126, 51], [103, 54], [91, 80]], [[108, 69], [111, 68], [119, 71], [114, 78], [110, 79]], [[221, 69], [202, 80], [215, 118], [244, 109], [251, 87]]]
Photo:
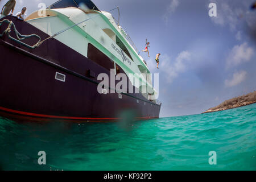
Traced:
[[[14, 13], [27, 14], [40, 2], [16, 0]], [[7, 0], [0, 0], [0, 7]], [[120, 24], [136, 47], [150, 42], [151, 73], [159, 73], [160, 117], [199, 114], [233, 97], [256, 90], [256, 10], [254, 0], [94, 0], [104, 11], [119, 6]], [[217, 16], [209, 16], [216, 3]], [[118, 11], [112, 12], [118, 18]], [[155, 55], [159, 57], [156, 69]]]

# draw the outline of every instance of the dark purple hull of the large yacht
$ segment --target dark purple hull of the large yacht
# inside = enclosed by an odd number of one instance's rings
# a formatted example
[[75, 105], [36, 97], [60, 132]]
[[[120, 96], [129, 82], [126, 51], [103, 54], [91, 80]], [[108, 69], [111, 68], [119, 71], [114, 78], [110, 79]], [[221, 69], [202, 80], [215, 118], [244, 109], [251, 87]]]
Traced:
[[[47, 34], [31, 24], [13, 20], [20, 34]], [[0, 34], [6, 29], [2, 24]], [[12, 36], [15, 36], [11, 32]], [[30, 38], [26, 43], [35, 44]], [[15, 119], [67, 121], [114, 121], [123, 111], [133, 111], [137, 119], [159, 118], [161, 105], [142, 94], [100, 94], [97, 75], [110, 71], [56, 39], [48, 39], [36, 49], [26, 48], [3, 36], [0, 38], [0, 114]], [[88, 71], [94, 76], [88, 75]], [[55, 79], [56, 72], [65, 82]]]

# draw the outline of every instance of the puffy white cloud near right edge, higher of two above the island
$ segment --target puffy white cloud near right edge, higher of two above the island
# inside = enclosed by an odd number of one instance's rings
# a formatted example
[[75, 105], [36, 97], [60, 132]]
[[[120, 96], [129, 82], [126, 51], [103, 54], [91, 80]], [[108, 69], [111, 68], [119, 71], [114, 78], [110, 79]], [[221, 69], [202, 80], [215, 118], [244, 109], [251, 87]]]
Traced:
[[250, 61], [253, 53], [253, 48], [249, 47], [247, 43], [234, 46], [226, 60], [228, 67]]

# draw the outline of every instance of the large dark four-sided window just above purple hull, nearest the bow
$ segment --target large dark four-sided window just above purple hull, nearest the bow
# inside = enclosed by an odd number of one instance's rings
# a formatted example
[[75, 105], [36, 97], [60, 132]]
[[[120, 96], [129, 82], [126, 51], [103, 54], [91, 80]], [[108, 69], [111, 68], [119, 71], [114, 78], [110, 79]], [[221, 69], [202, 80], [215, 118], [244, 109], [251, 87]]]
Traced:
[[94, 47], [92, 44], [88, 44], [88, 59], [94, 61], [95, 63], [101, 65], [102, 67], [108, 69], [114, 69], [114, 61], [109, 59], [104, 53], [102, 53], [99, 49]]

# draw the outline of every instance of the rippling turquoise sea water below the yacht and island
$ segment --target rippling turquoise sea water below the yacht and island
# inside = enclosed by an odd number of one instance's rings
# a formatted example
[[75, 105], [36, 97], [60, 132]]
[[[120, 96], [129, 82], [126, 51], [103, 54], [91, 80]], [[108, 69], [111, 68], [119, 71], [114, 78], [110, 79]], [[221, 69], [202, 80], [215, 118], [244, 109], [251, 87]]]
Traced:
[[[217, 113], [117, 123], [0, 118], [9, 170], [256, 170], [256, 104]], [[38, 151], [47, 154], [39, 166]], [[217, 164], [210, 165], [209, 151]]]

